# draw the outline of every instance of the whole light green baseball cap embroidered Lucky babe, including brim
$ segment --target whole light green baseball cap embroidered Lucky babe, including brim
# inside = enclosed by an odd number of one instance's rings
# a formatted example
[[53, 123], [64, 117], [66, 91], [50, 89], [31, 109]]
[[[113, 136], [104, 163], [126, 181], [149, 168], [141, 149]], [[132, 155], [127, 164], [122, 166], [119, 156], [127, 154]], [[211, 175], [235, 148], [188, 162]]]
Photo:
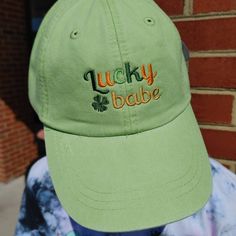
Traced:
[[29, 97], [59, 200], [127, 232], [183, 219], [212, 190], [178, 31], [152, 0], [59, 0], [37, 34]]

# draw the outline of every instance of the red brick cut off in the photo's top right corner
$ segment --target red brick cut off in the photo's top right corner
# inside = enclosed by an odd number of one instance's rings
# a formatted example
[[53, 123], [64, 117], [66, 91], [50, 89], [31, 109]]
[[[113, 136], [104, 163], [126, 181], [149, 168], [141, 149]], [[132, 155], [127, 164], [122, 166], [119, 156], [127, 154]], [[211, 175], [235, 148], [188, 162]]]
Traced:
[[205, 12], [224, 12], [236, 10], [235, 0], [194, 0], [193, 1], [193, 12], [194, 13], [205, 13]]

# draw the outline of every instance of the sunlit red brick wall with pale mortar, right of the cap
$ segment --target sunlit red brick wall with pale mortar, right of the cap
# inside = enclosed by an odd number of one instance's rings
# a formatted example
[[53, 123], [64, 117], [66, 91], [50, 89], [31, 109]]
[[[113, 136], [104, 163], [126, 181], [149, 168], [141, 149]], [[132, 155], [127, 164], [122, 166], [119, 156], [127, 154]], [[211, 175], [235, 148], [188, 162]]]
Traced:
[[210, 156], [236, 172], [236, 0], [156, 0], [190, 50], [192, 106]]

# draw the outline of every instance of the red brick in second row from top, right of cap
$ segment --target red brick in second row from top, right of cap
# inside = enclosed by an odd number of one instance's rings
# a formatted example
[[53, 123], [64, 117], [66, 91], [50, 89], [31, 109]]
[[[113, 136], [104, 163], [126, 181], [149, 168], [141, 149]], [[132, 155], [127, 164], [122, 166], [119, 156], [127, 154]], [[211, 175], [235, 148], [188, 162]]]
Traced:
[[236, 48], [236, 17], [175, 22], [191, 51]]

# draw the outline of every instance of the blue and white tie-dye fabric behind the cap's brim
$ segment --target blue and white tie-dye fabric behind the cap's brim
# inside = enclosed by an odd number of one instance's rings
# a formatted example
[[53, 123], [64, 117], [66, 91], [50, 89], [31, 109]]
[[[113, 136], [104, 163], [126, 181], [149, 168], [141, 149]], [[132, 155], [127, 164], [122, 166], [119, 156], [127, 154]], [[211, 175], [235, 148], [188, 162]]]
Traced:
[[213, 192], [194, 215], [163, 227], [127, 233], [102, 233], [74, 222], [61, 207], [48, 172], [37, 161], [26, 181], [16, 236], [236, 236], [236, 175], [210, 158]]

